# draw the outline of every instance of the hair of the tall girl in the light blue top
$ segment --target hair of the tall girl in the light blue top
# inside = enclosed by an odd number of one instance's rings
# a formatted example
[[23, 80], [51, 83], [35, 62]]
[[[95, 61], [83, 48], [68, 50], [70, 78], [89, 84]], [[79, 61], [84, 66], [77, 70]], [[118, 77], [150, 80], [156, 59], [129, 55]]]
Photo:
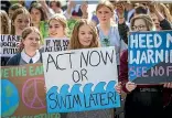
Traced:
[[96, 8], [96, 12], [101, 9], [103, 7], [107, 7], [110, 9], [111, 12], [114, 12], [114, 6], [110, 1], [108, 0], [103, 0], [98, 3], [97, 8]]

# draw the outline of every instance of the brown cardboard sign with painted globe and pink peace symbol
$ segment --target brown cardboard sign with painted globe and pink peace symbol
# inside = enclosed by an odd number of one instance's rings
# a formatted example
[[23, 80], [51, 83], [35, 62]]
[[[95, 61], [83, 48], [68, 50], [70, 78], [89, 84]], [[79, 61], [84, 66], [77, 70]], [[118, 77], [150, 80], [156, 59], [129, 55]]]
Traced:
[[42, 64], [1, 67], [2, 118], [61, 118], [46, 114]]

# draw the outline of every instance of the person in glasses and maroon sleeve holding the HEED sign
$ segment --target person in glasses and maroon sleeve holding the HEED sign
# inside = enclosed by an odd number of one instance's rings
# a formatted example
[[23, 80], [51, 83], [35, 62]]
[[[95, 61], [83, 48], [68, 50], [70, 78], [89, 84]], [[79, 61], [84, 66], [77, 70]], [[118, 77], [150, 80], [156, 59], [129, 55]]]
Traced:
[[[136, 15], [130, 23], [131, 31], [152, 31], [153, 21], [147, 14]], [[162, 118], [163, 117], [163, 84], [137, 85], [128, 79], [128, 51], [120, 57], [119, 81], [122, 90], [127, 93], [125, 118]], [[164, 87], [166, 84], [164, 84]], [[169, 86], [168, 86], [169, 87]]]

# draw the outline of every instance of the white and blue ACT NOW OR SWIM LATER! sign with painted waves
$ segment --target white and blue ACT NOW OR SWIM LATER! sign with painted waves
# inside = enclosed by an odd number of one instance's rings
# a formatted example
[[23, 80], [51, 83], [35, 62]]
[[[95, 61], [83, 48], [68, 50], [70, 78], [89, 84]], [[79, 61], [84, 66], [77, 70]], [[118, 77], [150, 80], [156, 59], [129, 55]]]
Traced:
[[43, 53], [47, 112], [120, 106], [115, 47]]

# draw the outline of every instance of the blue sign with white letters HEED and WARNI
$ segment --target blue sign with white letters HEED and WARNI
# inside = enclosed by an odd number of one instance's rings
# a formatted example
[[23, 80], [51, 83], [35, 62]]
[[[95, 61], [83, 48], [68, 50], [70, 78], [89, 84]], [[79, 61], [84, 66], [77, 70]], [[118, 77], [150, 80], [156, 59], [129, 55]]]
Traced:
[[131, 32], [128, 49], [130, 81], [172, 82], [172, 31]]

